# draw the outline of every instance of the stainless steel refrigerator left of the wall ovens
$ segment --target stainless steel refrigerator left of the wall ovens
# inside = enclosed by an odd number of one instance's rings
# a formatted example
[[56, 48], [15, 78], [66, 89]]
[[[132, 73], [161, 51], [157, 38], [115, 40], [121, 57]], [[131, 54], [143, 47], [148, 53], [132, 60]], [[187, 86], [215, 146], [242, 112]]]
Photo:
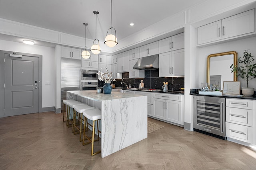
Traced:
[[66, 91], [80, 90], [81, 60], [61, 58], [61, 109]]

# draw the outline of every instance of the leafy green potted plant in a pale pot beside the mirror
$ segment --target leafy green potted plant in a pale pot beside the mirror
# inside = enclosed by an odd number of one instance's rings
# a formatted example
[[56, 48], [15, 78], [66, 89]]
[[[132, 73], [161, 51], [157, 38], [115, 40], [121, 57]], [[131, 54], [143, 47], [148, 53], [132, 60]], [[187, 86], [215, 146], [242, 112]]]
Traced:
[[244, 56], [238, 58], [238, 65], [231, 65], [231, 72], [235, 72], [236, 76], [246, 80], [247, 87], [242, 87], [242, 94], [244, 96], [252, 96], [254, 94], [254, 88], [249, 88], [249, 80], [256, 78], [256, 63], [254, 63], [254, 56], [248, 53], [248, 50], [244, 50]]

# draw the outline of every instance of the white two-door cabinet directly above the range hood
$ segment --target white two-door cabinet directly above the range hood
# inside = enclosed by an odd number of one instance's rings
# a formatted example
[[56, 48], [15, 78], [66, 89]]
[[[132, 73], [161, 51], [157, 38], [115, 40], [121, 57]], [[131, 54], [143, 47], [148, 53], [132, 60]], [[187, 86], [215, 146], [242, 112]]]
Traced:
[[154, 43], [147, 44], [147, 45], [143, 45], [139, 48], [140, 48], [140, 58], [150, 56], [150, 55], [159, 54], [158, 41], [156, 41]]

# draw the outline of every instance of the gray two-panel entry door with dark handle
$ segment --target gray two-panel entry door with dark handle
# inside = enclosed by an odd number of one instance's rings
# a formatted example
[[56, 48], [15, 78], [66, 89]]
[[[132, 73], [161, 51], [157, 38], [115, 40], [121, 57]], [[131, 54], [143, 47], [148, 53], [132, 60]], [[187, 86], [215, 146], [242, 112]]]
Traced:
[[5, 116], [39, 112], [39, 57], [4, 54]]

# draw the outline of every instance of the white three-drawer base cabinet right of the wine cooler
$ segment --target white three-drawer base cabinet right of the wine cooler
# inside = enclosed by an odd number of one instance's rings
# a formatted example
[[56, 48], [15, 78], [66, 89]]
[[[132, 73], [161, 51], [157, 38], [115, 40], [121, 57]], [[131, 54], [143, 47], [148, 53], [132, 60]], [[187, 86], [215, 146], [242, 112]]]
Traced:
[[252, 144], [253, 112], [252, 100], [226, 98], [226, 137]]

